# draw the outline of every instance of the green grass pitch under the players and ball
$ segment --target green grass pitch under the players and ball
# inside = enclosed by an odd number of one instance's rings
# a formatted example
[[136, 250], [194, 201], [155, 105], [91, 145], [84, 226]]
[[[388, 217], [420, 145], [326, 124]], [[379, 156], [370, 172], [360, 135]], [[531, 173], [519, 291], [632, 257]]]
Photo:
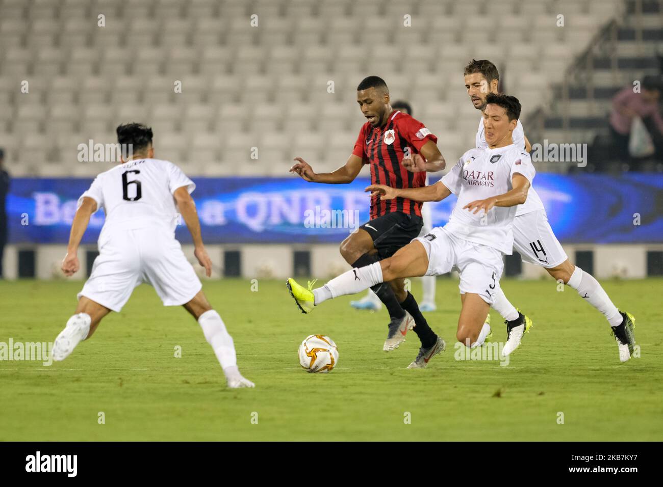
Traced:
[[[636, 317], [641, 356], [626, 364], [603, 316], [570, 288], [557, 292], [552, 279], [502, 284], [534, 319], [508, 366], [454, 359], [460, 299], [457, 282], [440, 278], [438, 311], [426, 317], [447, 351], [425, 370], [407, 370], [418, 340], [408, 334], [383, 352], [386, 311], [355, 311], [348, 296], [302, 315], [280, 280], [261, 280], [257, 292], [245, 280], [205, 282], [254, 390], [226, 389], [198, 323], [140, 286], [64, 362], [0, 362], [0, 440], [662, 439], [663, 280], [603, 282]], [[52, 341], [81, 287], [0, 282], [0, 342]], [[419, 280], [412, 287], [419, 297]], [[494, 339], [503, 341], [491, 313]], [[299, 366], [298, 346], [312, 333], [339, 347], [330, 374]]]

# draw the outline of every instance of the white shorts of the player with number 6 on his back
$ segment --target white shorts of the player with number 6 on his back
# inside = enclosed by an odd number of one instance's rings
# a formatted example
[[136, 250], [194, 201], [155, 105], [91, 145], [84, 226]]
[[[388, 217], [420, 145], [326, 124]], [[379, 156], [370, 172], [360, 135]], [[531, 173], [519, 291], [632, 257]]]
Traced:
[[172, 232], [160, 227], [112, 231], [99, 241], [90, 278], [78, 293], [120, 311], [134, 288], [151, 284], [166, 306], [183, 305], [202, 284]]

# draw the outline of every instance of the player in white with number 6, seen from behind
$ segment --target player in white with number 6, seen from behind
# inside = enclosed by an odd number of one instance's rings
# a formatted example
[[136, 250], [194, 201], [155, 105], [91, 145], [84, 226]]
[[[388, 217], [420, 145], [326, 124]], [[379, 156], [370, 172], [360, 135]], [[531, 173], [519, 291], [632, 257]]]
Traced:
[[62, 261], [66, 276], [80, 268], [78, 245], [90, 216], [103, 208], [105, 222], [99, 235], [99, 256], [78, 294], [76, 313], [55, 339], [53, 359], [69, 356], [80, 341], [94, 333], [105, 315], [119, 312], [134, 288], [147, 282], [154, 286], [164, 305], [184, 306], [198, 320], [230, 388], [254, 387], [239, 373], [233, 339], [175, 239], [179, 208], [196, 246], [194, 255], [209, 277], [211, 260], [200, 235], [196, 203], [190, 195], [196, 184], [172, 162], [154, 158], [149, 127], [120, 125], [117, 140], [121, 147], [131, 147], [133, 156], [127, 156], [129, 160], [123, 156], [122, 164], [99, 174], [78, 200]]

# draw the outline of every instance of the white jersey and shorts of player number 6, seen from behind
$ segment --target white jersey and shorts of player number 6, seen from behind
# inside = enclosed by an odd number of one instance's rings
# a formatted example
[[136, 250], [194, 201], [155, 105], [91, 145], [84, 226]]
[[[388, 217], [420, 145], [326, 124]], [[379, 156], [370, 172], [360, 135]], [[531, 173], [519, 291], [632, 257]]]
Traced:
[[154, 286], [164, 305], [188, 303], [202, 284], [175, 239], [178, 188], [191, 193], [196, 184], [166, 160], [137, 159], [102, 172], [84, 197], [97, 202], [106, 219], [99, 255], [78, 298], [85, 296], [120, 311], [134, 288]]

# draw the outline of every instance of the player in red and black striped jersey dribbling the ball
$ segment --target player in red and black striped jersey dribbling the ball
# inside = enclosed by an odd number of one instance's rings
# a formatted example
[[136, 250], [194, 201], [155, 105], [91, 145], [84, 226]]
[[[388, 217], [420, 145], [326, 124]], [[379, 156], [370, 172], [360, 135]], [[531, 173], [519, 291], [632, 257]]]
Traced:
[[[357, 103], [367, 123], [361, 127], [345, 166], [331, 173], [317, 174], [298, 157], [290, 172], [308, 182], [347, 184], [368, 164], [373, 184], [404, 189], [426, 186], [426, 171], [444, 169], [444, 157], [436, 145], [438, 138], [420, 121], [392, 109], [389, 88], [382, 78], [369, 76], [361, 81], [357, 86]], [[357, 268], [391, 257], [418, 237], [423, 225], [421, 205], [407, 198], [381, 201], [379, 196], [371, 197], [371, 220], [341, 243], [345, 261]], [[422, 348], [430, 349], [439, 343], [414, 296], [405, 290], [404, 280], [379, 284], [372, 289], [389, 311], [389, 335], [384, 351], [397, 348], [413, 324]]]

